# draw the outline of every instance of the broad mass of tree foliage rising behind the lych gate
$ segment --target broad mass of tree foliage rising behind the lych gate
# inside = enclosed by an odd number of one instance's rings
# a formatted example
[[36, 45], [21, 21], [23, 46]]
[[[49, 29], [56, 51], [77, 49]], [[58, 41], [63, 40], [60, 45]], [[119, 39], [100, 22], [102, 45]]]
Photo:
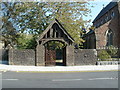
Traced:
[[[74, 38], [76, 44], [82, 44], [81, 27], [87, 24], [84, 16], [90, 13], [88, 2], [2, 2], [2, 32], [6, 46], [8, 43], [19, 48], [34, 48], [36, 36], [46, 29], [55, 18]], [[22, 38], [20, 34], [35, 35], [32, 39]], [[57, 45], [57, 44], [56, 44]]]

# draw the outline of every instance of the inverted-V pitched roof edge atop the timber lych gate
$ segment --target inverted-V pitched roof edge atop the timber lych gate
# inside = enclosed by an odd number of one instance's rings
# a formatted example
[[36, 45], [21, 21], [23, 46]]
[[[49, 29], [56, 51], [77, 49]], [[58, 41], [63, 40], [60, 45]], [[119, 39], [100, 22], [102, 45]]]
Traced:
[[63, 34], [65, 34], [67, 36], [67, 38], [69, 40], [71, 40], [72, 42], [74, 42], [74, 39], [69, 35], [69, 33], [65, 30], [65, 28], [59, 23], [59, 21], [57, 19], [55, 19], [40, 35], [40, 37], [37, 39], [37, 41], [41, 40], [44, 38], [44, 36], [49, 32], [49, 30], [52, 28], [52, 26], [54, 24], [57, 24], [60, 29], [62, 30]]

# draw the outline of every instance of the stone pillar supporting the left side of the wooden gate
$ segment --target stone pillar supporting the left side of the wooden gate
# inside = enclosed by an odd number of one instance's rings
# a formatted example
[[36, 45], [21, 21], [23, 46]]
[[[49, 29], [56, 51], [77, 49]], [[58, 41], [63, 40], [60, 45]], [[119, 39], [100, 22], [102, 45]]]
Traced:
[[36, 65], [45, 66], [45, 47], [38, 45], [36, 48]]

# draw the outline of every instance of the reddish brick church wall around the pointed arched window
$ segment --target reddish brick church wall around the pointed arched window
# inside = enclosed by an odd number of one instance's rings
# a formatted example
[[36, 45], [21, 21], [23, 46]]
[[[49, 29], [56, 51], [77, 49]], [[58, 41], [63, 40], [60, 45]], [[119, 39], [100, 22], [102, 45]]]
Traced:
[[[101, 25], [100, 27], [95, 29], [95, 33], [96, 33], [96, 47], [103, 47], [106, 46], [107, 43], [107, 38], [106, 38], [106, 32], [111, 29], [113, 31], [113, 45], [114, 46], [118, 46], [118, 42], [119, 42], [119, 12], [118, 12], [118, 7], [114, 7], [112, 9], [115, 12], [115, 16], [109, 20], [108, 22], [104, 23], [103, 25]], [[110, 10], [108, 12], [108, 16], [109, 14], [111, 14]], [[101, 17], [101, 19], [104, 17]], [[101, 20], [100, 19], [100, 20]]]

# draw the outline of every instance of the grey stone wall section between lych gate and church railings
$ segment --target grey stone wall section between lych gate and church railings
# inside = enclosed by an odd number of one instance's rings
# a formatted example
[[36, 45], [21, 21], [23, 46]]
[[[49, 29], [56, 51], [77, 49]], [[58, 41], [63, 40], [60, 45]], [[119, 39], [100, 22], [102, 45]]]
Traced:
[[96, 65], [97, 51], [96, 49], [75, 49], [74, 65]]

